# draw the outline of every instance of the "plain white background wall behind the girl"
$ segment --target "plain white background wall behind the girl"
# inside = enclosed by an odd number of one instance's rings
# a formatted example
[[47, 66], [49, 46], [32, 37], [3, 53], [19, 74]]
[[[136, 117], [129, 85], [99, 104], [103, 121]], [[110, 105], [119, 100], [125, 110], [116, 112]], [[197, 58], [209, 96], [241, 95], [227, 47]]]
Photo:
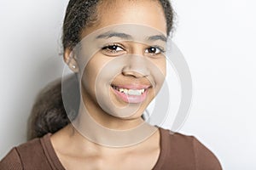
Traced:
[[[194, 83], [182, 133], [212, 150], [224, 169], [256, 169], [256, 3], [172, 0], [173, 40]], [[39, 89], [61, 77], [65, 1], [0, 1], [0, 158], [26, 141]]]

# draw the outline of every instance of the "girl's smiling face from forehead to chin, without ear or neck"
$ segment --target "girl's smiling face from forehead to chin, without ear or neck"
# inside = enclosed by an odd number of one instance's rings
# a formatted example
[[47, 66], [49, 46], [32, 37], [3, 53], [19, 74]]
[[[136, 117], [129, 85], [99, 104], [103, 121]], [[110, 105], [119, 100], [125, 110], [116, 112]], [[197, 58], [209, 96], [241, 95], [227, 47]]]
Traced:
[[[109, 10], [111, 8], [111, 10]], [[90, 112], [137, 119], [166, 76], [166, 19], [158, 1], [112, 1], [85, 28], [78, 55], [84, 105]]]

